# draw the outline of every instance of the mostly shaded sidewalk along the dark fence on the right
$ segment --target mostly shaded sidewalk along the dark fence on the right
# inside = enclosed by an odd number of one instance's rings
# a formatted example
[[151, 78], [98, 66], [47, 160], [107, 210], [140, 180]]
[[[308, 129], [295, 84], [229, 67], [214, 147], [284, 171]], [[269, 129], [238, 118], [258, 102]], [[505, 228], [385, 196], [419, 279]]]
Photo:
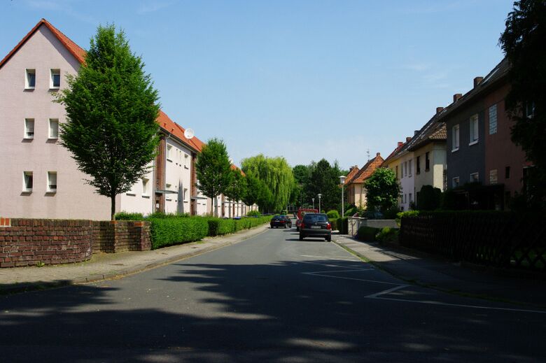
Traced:
[[[546, 308], [546, 281], [502, 276], [498, 271], [448, 262], [409, 248], [365, 243], [337, 235], [335, 243], [391, 275], [444, 292]], [[507, 275], [507, 274], [505, 274]]]

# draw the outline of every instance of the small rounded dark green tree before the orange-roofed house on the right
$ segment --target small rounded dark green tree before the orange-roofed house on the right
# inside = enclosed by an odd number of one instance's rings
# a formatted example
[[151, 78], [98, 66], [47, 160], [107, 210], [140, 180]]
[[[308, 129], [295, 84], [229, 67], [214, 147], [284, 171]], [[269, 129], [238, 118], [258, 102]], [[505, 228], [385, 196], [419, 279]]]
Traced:
[[398, 204], [400, 185], [394, 171], [387, 168], [377, 168], [370, 178], [367, 178], [366, 188], [367, 210], [385, 213], [389, 208]]

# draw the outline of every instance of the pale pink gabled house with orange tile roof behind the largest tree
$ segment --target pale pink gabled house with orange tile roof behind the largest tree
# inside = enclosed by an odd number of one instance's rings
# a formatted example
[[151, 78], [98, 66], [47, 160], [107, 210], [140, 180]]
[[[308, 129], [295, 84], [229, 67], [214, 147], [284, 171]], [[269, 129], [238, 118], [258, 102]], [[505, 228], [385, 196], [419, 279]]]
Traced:
[[[47, 20], [40, 20], [0, 61], [0, 215], [25, 218], [108, 220], [110, 200], [85, 183], [87, 176], [59, 144], [64, 106], [53, 102], [75, 75], [85, 50]], [[197, 190], [195, 158], [204, 143], [160, 112], [158, 157], [146, 176], [116, 197], [117, 211], [211, 211]], [[85, 201], [81, 204], [80, 201]]]

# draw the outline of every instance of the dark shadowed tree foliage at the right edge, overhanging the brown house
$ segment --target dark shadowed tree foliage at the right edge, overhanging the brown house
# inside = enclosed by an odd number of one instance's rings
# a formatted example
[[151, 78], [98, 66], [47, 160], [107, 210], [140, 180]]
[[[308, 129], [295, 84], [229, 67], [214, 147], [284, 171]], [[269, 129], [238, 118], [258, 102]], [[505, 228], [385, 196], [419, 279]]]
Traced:
[[[514, 2], [500, 45], [510, 62], [510, 92], [505, 104], [512, 141], [535, 164], [530, 196], [545, 207], [546, 198], [546, 1]], [[538, 200], [536, 200], [538, 199]]]

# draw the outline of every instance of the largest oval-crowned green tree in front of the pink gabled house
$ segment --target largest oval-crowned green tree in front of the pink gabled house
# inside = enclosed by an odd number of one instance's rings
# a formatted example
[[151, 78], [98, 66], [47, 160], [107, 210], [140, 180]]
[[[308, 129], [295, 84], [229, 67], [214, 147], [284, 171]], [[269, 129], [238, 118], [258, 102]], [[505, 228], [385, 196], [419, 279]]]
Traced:
[[116, 195], [130, 190], [155, 157], [158, 92], [113, 25], [97, 29], [78, 74], [66, 78], [68, 87], [57, 96], [66, 106], [60, 143], [89, 176], [86, 182], [111, 199], [114, 220]]

